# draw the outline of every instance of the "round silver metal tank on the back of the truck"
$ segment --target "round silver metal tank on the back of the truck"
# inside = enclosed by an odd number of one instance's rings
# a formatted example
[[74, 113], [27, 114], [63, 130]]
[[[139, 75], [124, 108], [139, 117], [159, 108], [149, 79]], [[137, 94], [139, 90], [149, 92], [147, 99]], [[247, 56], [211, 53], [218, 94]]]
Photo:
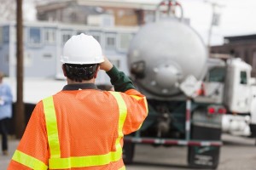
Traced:
[[143, 26], [131, 41], [128, 64], [137, 85], [151, 94], [178, 94], [188, 75], [201, 79], [207, 63], [201, 37], [175, 18]]

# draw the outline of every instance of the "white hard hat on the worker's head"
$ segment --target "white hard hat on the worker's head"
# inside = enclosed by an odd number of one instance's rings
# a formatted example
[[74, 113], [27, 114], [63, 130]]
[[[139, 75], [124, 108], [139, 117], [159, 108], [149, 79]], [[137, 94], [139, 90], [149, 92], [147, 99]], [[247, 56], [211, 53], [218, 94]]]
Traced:
[[89, 65], [102, 63], [102, 47], [92, 36], [84, 33], [73, 36], [64, 45], [61, 62], [67, 64]]

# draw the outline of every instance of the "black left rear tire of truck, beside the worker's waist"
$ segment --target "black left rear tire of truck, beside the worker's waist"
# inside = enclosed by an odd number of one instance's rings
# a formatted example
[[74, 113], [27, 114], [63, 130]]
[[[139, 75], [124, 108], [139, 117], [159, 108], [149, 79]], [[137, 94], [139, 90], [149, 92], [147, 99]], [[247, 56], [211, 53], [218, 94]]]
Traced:
[[123, 147], [123, 160], [125, 164], [131, 164], [133, 161], [135, 150], [135, 144], [131, 142], [125, 142]]

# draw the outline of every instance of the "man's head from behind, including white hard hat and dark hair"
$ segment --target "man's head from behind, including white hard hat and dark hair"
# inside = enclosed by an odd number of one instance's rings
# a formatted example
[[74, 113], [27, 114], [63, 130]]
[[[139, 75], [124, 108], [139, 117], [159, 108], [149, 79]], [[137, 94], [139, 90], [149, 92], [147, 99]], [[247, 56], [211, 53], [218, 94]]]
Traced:
[[66, 76], [75, 82], [90, 80], [104, 61], [102, 47], [92, 36], [80, 34], [71, 37], [64, 45], [61, 62]]

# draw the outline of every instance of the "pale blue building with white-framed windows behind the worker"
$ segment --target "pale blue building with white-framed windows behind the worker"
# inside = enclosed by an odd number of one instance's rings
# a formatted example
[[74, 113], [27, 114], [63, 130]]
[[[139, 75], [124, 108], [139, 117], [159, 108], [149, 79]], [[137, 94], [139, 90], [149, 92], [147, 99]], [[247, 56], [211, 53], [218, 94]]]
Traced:
[[[60, 62], [63, 44], [73, 35], [82, 32], [95, 37], [102, 45], [103, 54], [108, 56], [114, 65], [128, 73], [126, 51], [137, 29], [137, 27], [26, 22], [24, 23], [24, 76], [63, 78]], [[5, 23], [0, 26], [0, 68], [9, 77], [16, 75], [15, 31], [15, 23]], [[101, 77], [101, 73], [99, 77], [99, 83], [108, 81], [108, 77]]]

